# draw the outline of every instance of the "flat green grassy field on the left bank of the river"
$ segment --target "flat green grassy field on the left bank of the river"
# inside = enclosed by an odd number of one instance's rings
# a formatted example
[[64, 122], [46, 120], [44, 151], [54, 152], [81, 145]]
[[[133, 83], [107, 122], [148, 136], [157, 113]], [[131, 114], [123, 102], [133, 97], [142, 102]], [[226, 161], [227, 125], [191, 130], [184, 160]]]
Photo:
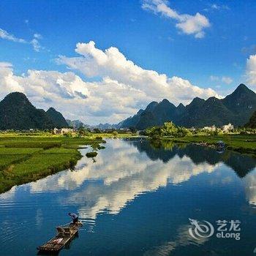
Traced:
[[101, 149], [102, 138], [0, 136], [0, 193], [75, 166], [79, 146]]

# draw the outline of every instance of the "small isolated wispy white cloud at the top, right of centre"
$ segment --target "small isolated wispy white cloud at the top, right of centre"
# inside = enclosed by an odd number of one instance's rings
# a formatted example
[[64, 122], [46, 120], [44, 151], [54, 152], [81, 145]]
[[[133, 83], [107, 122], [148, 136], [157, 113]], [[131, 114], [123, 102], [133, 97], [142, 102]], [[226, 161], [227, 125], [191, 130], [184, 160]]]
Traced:
[[176, 27], [178, 29], [184, 34], [194, 35], [195, 38], [204, 37], [204, 29], [211, 26], [210, 21], [205, 15], [201, 15], [199, 12], [195, 15], [179, 14], [168, 6], [168, 1], [166, 0], [143, 0], [142, 8], [143, 10], [149, 10], [155, 14], [176, 20]]

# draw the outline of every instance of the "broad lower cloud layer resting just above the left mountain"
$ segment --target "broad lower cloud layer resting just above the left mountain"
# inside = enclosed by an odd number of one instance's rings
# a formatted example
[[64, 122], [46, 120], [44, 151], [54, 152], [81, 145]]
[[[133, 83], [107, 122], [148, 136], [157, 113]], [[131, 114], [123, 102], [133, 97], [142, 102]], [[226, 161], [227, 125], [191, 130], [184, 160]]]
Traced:
[[12, 91], [26, 94], [37, 108], [53, 106], [66, 118], [89, 124], [117, 122], [138, 110], [138, 102], [148, 103], [143, 91], [104, 78], [86, 82], [73, 72], [28, 70], [15, 75], [12, 65], [0, 62], [0, 100]]

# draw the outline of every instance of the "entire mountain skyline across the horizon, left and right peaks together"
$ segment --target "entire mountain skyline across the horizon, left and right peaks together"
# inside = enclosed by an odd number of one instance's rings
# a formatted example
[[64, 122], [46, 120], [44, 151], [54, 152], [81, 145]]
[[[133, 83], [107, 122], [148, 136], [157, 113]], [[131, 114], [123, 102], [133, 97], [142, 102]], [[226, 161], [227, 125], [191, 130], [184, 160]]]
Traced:
[[[218, 127], [232, 123], [236, 127], [254, 127], [256, 110], [256, 94], [244, 84], [240, 84], [232, 94], [224, 99], [195, 97], [189, 105], [179, 104], [177, 107], [167, 99], [162, 102], [151, 102], [145, 110], [138, 110], [118, 124], [98, 124], [89, 126], [79, 120], [65, 120], [64, 116], [54, 108], [37, 109], [29, 102], [25, 94], [13, 92], [0, 102], [0, 129], [53, 129], [54, 127], [94, 127], [99, 129], [121, 129], [162, 125], [165, 121], [173, 121], [184, 127], [204, 127], [213, 124]], [[252, 116], [252, 118], [251, 118]], [[250, 121], [249, 121], [249, 118]]]

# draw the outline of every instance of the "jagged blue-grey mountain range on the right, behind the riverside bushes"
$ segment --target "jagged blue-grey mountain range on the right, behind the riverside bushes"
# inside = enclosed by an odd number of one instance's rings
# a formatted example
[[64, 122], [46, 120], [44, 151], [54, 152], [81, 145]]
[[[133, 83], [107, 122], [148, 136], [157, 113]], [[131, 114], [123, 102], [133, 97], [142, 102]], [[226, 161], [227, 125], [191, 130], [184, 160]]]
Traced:
[[241, 83], [232, 94], [224, 99], [210, 97], [200, 99], [195, 97], [189, 105], [173, 105], [167, 99], [162, 102], [151, 102], [145, 110], [139, 110], [135, 116], [129, 117], [117, 124], [120, 128], [135, 127], [146, 129], [162, 125], [165, 121], [184, 127], [218, 127], [232, 123], [236, 127], [243, 126], [249, 121], [256, 110], [256, 94]]

